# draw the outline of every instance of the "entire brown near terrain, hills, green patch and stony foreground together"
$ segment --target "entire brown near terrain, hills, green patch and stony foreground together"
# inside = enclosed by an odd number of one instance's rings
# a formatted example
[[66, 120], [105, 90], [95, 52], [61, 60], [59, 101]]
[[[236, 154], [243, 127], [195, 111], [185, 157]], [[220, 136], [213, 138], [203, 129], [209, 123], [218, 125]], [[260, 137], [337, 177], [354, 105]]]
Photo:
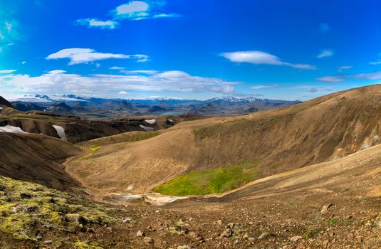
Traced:
[[0, 248], [381, 248], [380, 100], [78, 144], [0, 132]]

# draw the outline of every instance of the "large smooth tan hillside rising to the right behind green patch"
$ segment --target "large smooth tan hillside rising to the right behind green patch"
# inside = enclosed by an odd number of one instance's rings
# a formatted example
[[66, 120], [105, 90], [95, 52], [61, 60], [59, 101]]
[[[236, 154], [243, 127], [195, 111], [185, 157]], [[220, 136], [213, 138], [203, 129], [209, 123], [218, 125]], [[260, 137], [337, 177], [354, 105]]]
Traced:
[[240, 182], [238, 177], [224, 186], [234, 189], [378, 144], [380, 97], [381, 86], [372, 85], [278, 110], [182, 122], [140, 142], [98, 147], [66, 169], [96, 191], [142, 193], [194, 171], [238, 166], [242, 172], [245, 162], [252, 163], [253, 179]]

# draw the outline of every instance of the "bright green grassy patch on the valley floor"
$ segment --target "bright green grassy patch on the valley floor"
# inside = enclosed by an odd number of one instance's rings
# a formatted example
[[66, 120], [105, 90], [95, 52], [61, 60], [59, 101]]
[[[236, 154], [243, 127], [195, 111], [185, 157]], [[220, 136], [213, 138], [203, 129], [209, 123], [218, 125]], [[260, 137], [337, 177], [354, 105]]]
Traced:
[[157, 186], [154, 191], [169, 196], [219, 194], [254, 181], [258, 161], [242, 162], [205, 171], [193, 171]]

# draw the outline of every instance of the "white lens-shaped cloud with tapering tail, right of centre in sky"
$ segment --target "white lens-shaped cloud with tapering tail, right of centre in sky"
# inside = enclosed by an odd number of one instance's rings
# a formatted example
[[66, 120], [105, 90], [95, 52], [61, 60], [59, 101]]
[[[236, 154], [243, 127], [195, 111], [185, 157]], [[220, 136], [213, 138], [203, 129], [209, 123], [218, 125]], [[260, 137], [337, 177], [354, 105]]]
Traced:
[[305, 69], [305, 70], [317, 69], [315, 65], [288, 63], [286, 61], [279, 59], [276, 55], [271, 55], [270, 53], [265, 53], [262, 51], [228, 52], [228, 53], [221, 53], [221, 56], [236, 63], [253, 63], [256, 65], [260, 65], [260, 64], [286, 65], [292, 68]]

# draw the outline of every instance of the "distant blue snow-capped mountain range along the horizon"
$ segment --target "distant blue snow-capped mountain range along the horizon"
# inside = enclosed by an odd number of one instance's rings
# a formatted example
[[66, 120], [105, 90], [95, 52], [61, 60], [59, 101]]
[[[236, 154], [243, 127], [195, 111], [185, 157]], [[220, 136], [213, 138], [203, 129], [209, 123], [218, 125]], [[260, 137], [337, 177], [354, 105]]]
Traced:
[[182, 100], [154, 97], [141, 100], [80, 97], [76, 95], [25, 95], [13, 100], [20, 111], [45, 111], [56, 115], [76, 115], [84, 119], [110, 119], [141, 115], [204, 116], [244, 115], [274, 107], [287, 107], [300, 101], [268, 100], [256, 97], [219, 97], [210, 100]]

